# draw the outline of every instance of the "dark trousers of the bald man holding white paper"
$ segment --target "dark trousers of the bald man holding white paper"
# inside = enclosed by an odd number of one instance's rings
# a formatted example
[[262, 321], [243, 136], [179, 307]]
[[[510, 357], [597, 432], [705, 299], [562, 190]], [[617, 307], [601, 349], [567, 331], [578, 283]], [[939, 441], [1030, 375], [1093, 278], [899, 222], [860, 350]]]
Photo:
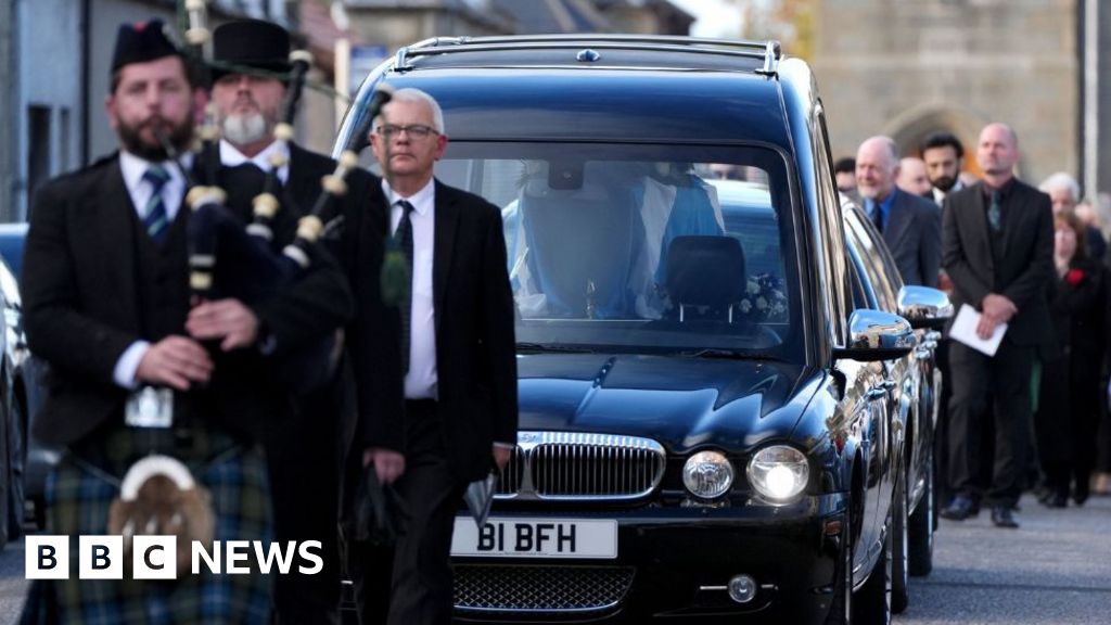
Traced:
[[[1013, 507], [1022, 494], [1032, 429], [1030, 376], [1034, 348], [1004, 340], [994, 357], [952, 341], [949, 367], [949, 480], [954, 494]], [[994, 425], [991, 479], [983, 488], [982, 419]]]

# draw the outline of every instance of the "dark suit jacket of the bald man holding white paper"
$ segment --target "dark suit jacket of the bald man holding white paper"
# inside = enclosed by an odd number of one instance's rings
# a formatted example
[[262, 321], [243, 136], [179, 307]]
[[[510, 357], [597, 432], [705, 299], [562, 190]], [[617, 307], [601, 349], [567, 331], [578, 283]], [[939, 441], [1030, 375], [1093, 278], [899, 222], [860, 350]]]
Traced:
[[979, 310], [987, 295], [1003, 295], [1019, 309], [1004, 340], [1039, 345], [1050, 325], [1045, 288], [1054, 276], [1049, 196], [1014, 180], [1005, 206], [1003, 261], [998, 266], [985, 208], [983, 183], [945, 198], [942, 265], [953, 281], [953, 305], [968, 304]]

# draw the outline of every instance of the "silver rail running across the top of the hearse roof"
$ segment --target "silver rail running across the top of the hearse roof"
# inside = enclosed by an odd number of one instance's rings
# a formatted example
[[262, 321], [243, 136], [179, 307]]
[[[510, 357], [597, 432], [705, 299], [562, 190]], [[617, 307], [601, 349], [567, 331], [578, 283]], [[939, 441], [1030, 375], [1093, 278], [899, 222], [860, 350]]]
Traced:
[[702, 39], [665, 34], [522, 34], [514, 37], [436, 37], [406, 46], [394, 57], [394, 71], [413, 69], [411, 57], [450, 52], [488, 52], [498, 50], [537, 50], [543, 48], [578, 48], [585, 46], [608, 50], [643, 50], [695, 52], [704, 54], [734, 54], [763, 59], [764, 76], [774, 76], [779, 69], [782, 48], [779, 41], [743, 41], [737, 39]]

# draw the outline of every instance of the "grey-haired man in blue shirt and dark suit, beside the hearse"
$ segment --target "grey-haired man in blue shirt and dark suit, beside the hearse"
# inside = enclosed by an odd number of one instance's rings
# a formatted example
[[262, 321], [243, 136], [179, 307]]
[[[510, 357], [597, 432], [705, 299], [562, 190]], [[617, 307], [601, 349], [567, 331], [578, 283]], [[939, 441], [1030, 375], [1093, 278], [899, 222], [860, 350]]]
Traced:
[[900, 191], [899, 149], [889, 137], [872, 137], [857, 150], [857, 188], [864, 210], [883, 235], [908, 285], [938, 285], [941, 212], [930, 200]]

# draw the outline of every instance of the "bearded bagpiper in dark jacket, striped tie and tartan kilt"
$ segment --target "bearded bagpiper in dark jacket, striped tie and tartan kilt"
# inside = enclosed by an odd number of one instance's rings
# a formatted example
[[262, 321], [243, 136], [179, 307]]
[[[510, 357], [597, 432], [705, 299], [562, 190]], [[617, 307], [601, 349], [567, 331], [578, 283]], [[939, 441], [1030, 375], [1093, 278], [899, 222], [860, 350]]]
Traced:
[[[214, 539], [271, 539], [258, 442], [289, 418], [291, 403], [272, 366], [352, 309], [342, 275], [327, 267], [304, 278], [328, 301], [308, 324], [284, 292], [191, 306], [186, 180], [162, 137], [178, 150], [189, 146], [194, 90], [162, 29], [158, 21], [120, 29], [106, 109], [121, 151], [46, 185], [30, 216], [23, 320], [51, 371], [34, 435], [68, 450], [48, 502], [51, 533], [71, 537], [71, 569], [77, 536], [108, 534], [120, 478], [149, 454], [184, 464], [208, 489]], [[263, 339], [279, 347], [263, 355]], [[152, 613], [270, 623], [271, 582], [257, 571], [203, 572], [171, 585], [76, 575], [57, 583], [63, 623], [90, 614], [144, 622]]]

